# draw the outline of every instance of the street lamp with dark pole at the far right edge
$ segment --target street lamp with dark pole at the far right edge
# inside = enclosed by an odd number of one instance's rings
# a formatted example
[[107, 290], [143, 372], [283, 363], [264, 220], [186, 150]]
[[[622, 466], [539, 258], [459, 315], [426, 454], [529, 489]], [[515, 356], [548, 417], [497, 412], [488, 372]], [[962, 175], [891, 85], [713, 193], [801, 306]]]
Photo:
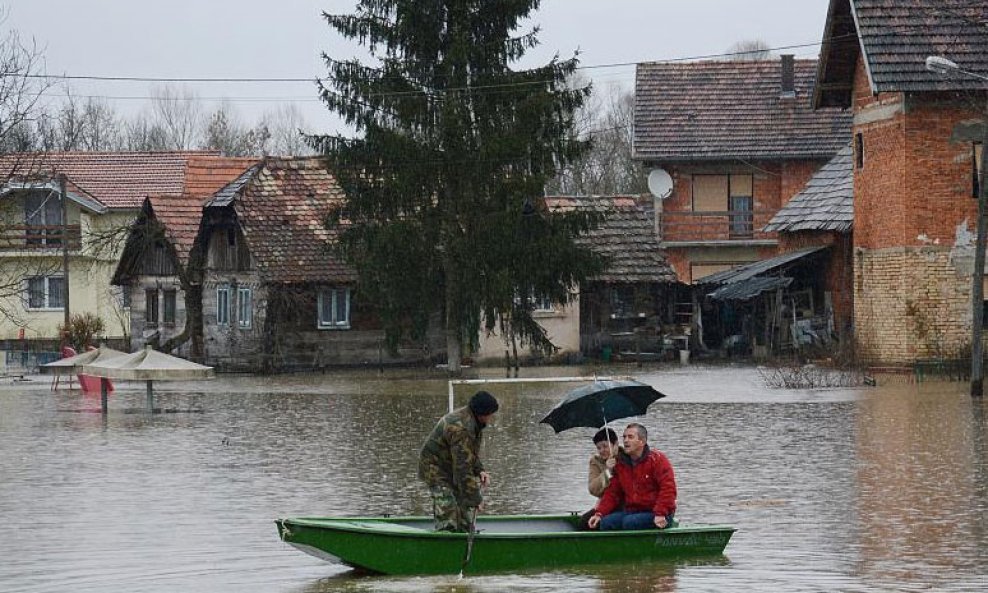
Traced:
[[[926, 58], [926, 69], [944, 77], [966, 76], [988, 82], [988, 76], [964, 70], [956, 62], [943, 56]], [[988, 90], [988, 86], [986, 86]], [[981, 139], [981, 178], [978, 180], [978, 234], [974, 243], [974, 272], [971, 274], [971, 396], [981, 397], [984, 393], [983, 350], [981, 343], [982, 325], [984, 324], [984, 276], [985, 276], [985, 210], [988, 206], [988, 184], [985, 183], [985, 172], [988, 171], [988, 108], [985, 109], [985, 121], [982, 123]]]

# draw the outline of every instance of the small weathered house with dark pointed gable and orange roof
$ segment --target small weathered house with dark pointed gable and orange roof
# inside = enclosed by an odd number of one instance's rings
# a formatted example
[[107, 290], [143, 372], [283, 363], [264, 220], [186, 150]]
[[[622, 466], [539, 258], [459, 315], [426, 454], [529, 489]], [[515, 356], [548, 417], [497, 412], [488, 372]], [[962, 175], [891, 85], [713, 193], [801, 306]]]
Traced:
[[[203, 202], [257, 162], [219, 156], [190, 159], [185, 191], [144, 199], [131, 225], [113, 284], [130, 303], [131, 349], [151, 344], [185, 357], [202, 357], [201, 318], [187, 301], [201, 300], [190, 262], [202, 221]], [[173, 348], [174, 347], [174, 348]]]

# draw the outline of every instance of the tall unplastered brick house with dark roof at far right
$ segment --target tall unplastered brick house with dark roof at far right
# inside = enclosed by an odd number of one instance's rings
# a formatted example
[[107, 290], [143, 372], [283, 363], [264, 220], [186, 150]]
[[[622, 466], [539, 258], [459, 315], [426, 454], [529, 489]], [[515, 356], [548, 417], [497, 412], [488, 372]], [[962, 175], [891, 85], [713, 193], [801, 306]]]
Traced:
[[[911, 362], [970, 345], [988, 6], [832, 0], [813, 97], [853, 112], [854, 325], [860, 355]], [[827, 41], [832, 40], [832, 41]]]

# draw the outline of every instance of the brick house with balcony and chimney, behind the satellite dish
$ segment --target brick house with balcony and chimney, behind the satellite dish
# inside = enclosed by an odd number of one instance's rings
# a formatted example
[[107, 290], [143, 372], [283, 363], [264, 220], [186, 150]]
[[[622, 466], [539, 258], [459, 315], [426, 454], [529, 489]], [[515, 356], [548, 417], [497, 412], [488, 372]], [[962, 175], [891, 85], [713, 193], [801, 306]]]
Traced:
[[850, 137], [850, 115], [813, 110], [815, 60], [643, 63], [633, 157], [664, 169], [659, 236], [685, 283], [779, 253], [765, 225]]

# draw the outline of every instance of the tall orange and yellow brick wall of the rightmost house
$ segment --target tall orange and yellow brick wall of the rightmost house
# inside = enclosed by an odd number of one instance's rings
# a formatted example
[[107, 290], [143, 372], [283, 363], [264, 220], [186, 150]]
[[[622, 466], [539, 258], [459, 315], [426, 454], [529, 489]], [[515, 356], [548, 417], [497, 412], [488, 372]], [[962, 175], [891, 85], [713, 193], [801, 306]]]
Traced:
[[971, 144], [954, 127], [976, 114], [949, 96], [873, 96], [859, 63], [854, 133], [854, 319], [864, 360], [908, 363], [970, 343], [976, 201]]

